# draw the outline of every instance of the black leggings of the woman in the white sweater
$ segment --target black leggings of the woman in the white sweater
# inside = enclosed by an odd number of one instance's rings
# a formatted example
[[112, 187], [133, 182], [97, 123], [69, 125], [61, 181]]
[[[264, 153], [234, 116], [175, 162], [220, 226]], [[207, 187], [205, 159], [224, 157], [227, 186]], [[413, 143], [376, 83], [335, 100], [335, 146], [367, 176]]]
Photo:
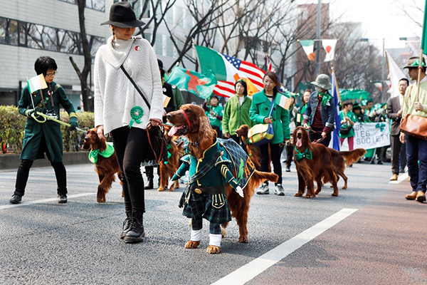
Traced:
[[114, 150], [122, 172], [125, 212], [145, 212], [144, 180], [141, 173], [143, 153], [150, 149], [146, 130], [122, 127], [111, 131]]

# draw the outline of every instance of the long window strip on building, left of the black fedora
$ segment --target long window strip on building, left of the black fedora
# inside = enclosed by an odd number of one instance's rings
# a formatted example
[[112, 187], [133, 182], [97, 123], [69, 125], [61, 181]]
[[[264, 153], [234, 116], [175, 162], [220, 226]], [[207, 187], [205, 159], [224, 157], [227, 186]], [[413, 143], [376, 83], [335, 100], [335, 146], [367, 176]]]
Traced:
[[[105, 38], [88, 35], [90, 51], [95, 56]], [[0, 17], [0, 43], [12, 46], [83, 54], [80, 33]]]

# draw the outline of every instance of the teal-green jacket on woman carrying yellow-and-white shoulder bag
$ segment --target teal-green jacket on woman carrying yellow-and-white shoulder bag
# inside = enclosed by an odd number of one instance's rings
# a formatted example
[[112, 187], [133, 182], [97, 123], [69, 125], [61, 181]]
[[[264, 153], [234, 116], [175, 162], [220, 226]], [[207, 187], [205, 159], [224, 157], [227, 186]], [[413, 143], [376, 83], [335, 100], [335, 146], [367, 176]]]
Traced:
[[[286, 94], [283, 95], [289, 97]], [[258, 93], [253, 94], [252, 105], [251, 109], [249, 110], [249, 117], [254, 124], [264, 123], [264, 119], [268, 118], [268, 115], [270, 114], [270, 105], [271, 101], [268, 100], [267, 96], [264, 94], [264, 89], [260, 90]], [[285, 110], [274, 103], [271, 118], [273, 120], [274, 137], [270, 143], [277, 144], [283, 142], [283, 140], [290, 139], [288, 110]]]

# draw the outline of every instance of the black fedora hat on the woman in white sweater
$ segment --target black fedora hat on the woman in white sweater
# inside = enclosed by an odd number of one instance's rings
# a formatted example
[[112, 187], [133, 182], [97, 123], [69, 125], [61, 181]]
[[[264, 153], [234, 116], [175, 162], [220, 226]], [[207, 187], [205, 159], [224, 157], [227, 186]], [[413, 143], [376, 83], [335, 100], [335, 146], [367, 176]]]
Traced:
[[134, 28], [144, 24], [143, 21], [137, 20], [129, 2], [112, 4], [110, 8], [110, 20], [101, 23], [101, 25], [112, 25], [119, 28]]

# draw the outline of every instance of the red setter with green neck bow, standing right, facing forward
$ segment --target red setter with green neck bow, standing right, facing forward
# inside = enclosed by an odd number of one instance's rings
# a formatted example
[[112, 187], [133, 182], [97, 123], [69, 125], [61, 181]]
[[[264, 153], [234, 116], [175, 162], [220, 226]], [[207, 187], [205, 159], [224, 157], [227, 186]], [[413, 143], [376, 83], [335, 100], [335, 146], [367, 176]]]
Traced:
[[[325, 145], [312, 143], [308, 138], [305, 128], [297, 127], [293, 133], [294, 162], [297, 167], [298, 192], [295, 197], [301, 197], [307, 187], [306, 198], [315, 197], [322, 190], [322, 177], [325, 182], [331, 182], [334, 192], [332, 196], [338, 196], [337, 176], [332, 165], [332, 155]], [[311, 158], [308, 154], [311, 152]], [[297, 156], [306, 154], [298, 161]], [[317, 182], [317, 189], [314, 191], [314, 181]]]

